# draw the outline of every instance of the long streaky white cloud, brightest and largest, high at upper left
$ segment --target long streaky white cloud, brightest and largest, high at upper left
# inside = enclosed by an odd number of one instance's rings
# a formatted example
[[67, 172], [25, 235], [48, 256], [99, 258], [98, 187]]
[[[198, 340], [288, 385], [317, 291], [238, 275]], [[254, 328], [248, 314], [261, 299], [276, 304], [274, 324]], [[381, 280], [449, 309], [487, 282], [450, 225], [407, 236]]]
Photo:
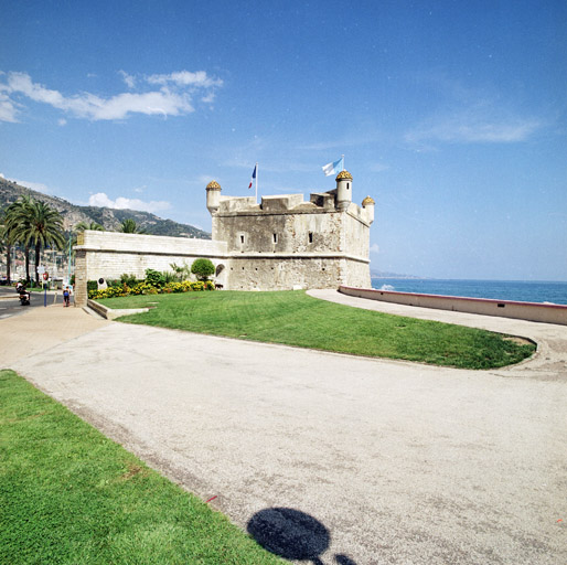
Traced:
[[[130, 88], [136, 86], [137, 81], [132, 75], [124, 71], [120, 74]], [[17, 121], [19, 103], [14, 98], [18, 96], [92, 120], [125, 119], [131, 114], [181, 116], [194, 111], [191, 100], [196, 89], [204, 90], [201, 100], [210, 103], [213, 96], [208, 88], [222, 85], [221, 79], [208, 77], [204, 71], [152, 75], [146, 81], [162, 86], [149, 92], [121, 93], [106, 98], [90, 93], [64, 96], [33, 83], [26, 73], [8, 73], [6, 83], [0, 83], [0, 120]]]

